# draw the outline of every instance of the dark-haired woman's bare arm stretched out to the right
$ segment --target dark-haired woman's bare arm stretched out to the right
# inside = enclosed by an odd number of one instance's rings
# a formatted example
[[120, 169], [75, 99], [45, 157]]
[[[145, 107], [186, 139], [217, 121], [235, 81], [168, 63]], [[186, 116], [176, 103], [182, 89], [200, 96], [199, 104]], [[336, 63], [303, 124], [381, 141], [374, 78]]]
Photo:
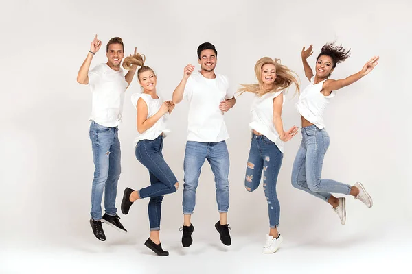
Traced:
[[361, 79], [362, 77], [370, 73], [378, 63], [379, 56], [374, 56], [368, 62], [366, 62], [361, 71], [359, 71], [358, 73], [352, 74], [349, 77], [346, 77], [345, 79], [326, 80], [323, 83], [324, 94], [329, 95], [330, 92], [332, 92], [333, 90], [339, 90], [344, 86], [349, 86], [350, 84], [353, 84], [354, 82], [358, 81], [358, 79]]

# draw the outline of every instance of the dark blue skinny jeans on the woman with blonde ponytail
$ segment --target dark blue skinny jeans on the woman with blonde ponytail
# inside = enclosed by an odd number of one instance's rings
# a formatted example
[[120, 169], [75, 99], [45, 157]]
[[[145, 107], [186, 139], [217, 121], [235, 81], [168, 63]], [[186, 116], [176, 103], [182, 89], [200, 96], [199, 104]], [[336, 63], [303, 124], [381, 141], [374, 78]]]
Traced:
[[179, 184], [161, 153], [163, 135], [155, 140], [140, 140], [136, 145], [136, 158], [149, 170], [150, 186], [138, 191], [139, 198], [150, 197], [148, 205], [150, 230], [160, 230], [163, 195], [176, 192]]

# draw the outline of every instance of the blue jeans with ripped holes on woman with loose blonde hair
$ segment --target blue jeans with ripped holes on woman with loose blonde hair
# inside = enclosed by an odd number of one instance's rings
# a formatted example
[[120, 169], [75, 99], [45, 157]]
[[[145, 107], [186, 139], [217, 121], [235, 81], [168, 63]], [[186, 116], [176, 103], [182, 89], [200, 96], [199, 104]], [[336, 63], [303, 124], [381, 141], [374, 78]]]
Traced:
[[252, 133], [251, 149], [247, 160], [244, 187], [249, 192], [256, 190], [260, 184], [263, 171], [263, 190], [268, 203], [269, 225], [279, 225], [280, 204], [276, 194], [277, 175], [282, 166], [283, 153], [277, 145], [264, 135]]

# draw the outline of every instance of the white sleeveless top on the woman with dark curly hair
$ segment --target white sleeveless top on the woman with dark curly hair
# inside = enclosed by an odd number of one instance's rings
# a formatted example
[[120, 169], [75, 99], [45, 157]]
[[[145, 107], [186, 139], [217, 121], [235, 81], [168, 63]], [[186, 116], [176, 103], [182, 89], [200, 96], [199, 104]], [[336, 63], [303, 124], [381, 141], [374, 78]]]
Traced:
[[325, 82], [325, 80], [314, 84], [314, 77], [312, 77], [310, 84], [301, 92], [299, 100], [295, 105], [299, 114], [319, 129], [325, 127], [323, 115], [325, 114], [325, 109], [329, 104], [330, 98], [335, 96], [335, 92], [333, 91], [328, 96], [321, 93], [323, 82]]

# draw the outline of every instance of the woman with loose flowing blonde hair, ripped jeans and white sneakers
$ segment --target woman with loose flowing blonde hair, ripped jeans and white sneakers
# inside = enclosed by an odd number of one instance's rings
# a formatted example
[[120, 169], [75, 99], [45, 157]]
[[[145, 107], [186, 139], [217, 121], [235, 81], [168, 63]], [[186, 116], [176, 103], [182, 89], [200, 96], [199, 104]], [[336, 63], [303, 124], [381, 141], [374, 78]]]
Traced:
[[269, 234], [263, 253], [275, 253], [282, 242], [277, 231], [279, 225], [280, 205], [276, 195], [277, 175], [284, 152], [284, 142], [297, 134], [297, 127], [284, 130], [282, 123], [282, 106], [284, 93], [291, 84], [299, 92], [295, 73], [280, 64], [279, 59], [260, 58], [255, 64], [258, 84], [242, 84], [240, 95], [251, 92], [255, 95], [251, 105], [251, 149], [247, 162], [244, 186], [247, 191], [256, 190], [260, 184], [263, 171], [263, 190], [268, 203]]

